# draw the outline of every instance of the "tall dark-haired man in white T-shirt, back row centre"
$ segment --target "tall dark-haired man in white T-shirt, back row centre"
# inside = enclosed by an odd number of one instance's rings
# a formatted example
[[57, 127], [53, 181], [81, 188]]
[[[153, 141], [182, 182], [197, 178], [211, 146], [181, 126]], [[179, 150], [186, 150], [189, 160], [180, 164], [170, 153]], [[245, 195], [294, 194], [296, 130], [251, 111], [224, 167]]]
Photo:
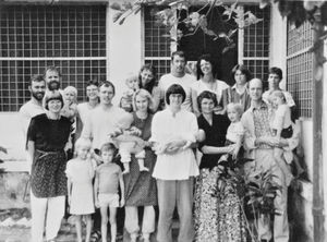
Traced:
[[165, 100], [166, 90], [172, 84], [179, 84], [183, 87], [186, 97], [182, 104], [182, 108], [187, 111], [192, 110], [191, 85], [196, 81], [194, 75], [185, 73], [186, 58], [183, 51], [175, 51], [171, 55], [171, 72], [161, 76], [159, 88], [161, 90], [161, 99]]

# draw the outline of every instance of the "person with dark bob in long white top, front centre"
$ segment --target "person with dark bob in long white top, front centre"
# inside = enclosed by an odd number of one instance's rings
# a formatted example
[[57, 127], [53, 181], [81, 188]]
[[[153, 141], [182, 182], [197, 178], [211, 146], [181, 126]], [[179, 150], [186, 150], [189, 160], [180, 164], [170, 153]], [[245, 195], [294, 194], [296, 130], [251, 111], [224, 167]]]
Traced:
[[171, 226], [177, 206], [180, 219], [178, 241], [193, 241], [192, 218], [193, 181], [198, 167], [190, 145], [195, 142], [198, 131], [194, 113], [181, 108], [185, 100], [181, 85], [173, 84], [167, 89], [167, 109], [154, 116], [152, 142], [157, 153], [153, 177], [158, 187], [158, 242], [172, 242]]

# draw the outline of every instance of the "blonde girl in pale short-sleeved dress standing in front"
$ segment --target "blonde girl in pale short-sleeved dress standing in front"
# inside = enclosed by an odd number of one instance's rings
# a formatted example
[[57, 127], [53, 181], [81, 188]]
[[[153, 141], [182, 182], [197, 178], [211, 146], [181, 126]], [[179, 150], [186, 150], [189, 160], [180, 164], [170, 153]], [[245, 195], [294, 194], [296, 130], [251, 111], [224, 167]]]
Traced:
[[82, 217], [86, 220], [86, 242], [89, 242], [94, 209], [93, 184], [94, 162], [90, 159], [89, 140], [78, 138], [75, 143], [77, 157], [68, 161], [68, 199], [70, 214], [75, 216], [77, 241], [82, 242]]

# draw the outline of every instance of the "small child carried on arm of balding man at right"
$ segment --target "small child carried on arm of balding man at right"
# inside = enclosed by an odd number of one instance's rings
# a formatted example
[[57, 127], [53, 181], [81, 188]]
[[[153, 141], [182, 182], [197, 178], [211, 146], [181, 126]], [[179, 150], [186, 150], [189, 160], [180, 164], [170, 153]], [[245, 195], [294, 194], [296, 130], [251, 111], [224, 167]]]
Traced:
[[[287, 105], [286, 97], [281, 90], [275, 90], [271, 94], [272, 100], [272, 113], [271, 113], [271, 130], [272, 135], [280, 138], [290, 138], [293, 135], [292, 121], [291, 121], [291, 109]], [[284, 173], [287, 185], [293, 179], [293, 176], [284, 162], [284, 160], [290, 164], [293, 159], [292, 152], [283, 150], [282, 148], [275, 147], [274, 148], [274, 157]]]

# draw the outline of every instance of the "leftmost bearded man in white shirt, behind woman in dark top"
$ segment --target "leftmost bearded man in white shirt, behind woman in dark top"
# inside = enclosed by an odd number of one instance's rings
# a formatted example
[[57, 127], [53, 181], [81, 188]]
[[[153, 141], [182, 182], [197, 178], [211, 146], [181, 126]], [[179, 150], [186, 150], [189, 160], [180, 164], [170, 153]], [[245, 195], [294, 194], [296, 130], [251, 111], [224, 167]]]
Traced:
[[[31, 119], [35, 116], [45, 112], [43, 107], [43, 99], [46, 92], [46, 81], [43, 75], [33, 75], [31, 78], [31, 83], [28, 85], [28, 89], [31, 92], [31, 99], [24, 104], [20, 109], [20, 120], [23, 130], [23, 137], [26, 140], [27, 130], [29, 126]], [[27, 155], [31, 166], [32, 160], [29, 160], [29, 156]]]

